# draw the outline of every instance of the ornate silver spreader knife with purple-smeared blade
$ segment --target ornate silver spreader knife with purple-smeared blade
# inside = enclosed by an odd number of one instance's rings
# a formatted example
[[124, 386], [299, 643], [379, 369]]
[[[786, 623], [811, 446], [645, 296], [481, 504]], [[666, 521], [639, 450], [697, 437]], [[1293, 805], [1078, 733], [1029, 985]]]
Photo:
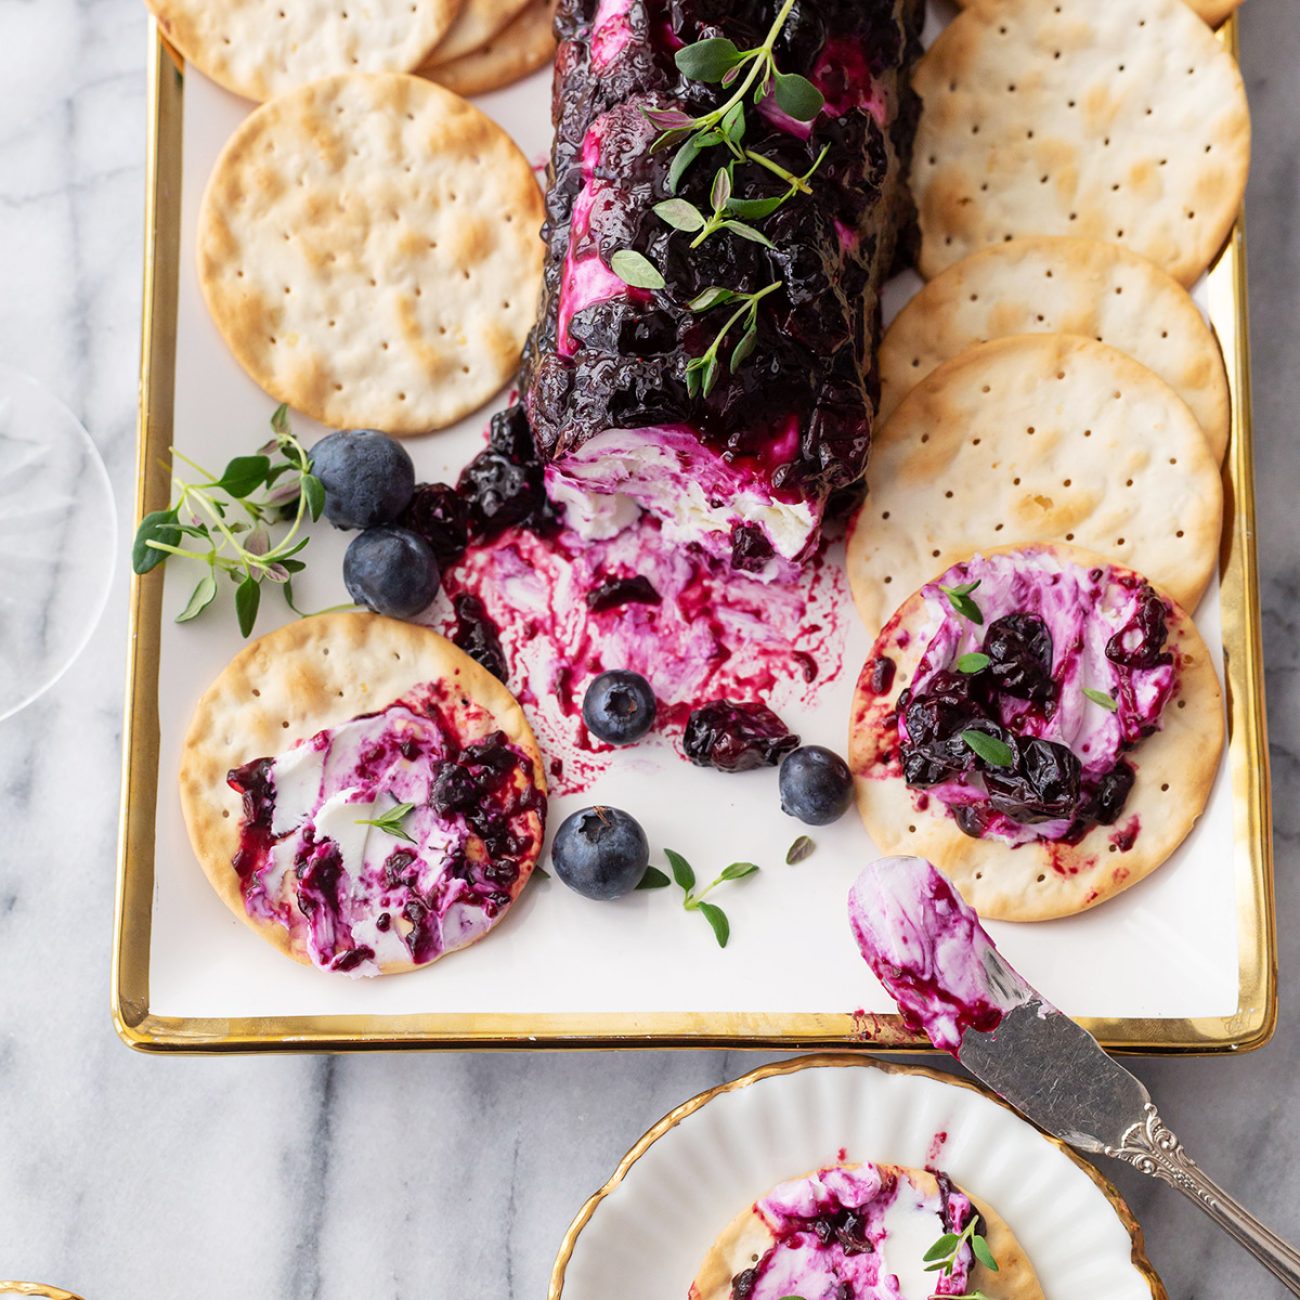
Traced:
[[1150, 1093], [1013, 970], [923, 858], [881, 858], [849, 894], [858, 949], [904, 1019], [1040, 1128], [1176, 1187], [1292, 1295], [1300, 1252], [1206, 1178]]

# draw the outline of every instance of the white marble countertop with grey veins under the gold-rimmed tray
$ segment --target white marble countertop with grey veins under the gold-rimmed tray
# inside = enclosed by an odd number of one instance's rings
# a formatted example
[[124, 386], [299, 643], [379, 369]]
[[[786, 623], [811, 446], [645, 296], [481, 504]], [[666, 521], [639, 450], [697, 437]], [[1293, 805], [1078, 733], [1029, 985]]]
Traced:
[[[1201, 1164], [1300, 1238], [1300, 6], [1251, 0], [1243, 29], [1282, 1017], [1253, 1056], [1138, 1070]], [[140, 0], [0, 0], [0, 360], [86, 422], [124, 516], [144, 56]], [[0, 1277], [87, 1300], [545, 1295], [571, 1216], [627, 1147], [760, 1058], [129, 1052], [108, 1014], [125, 572], [116, 588], [74, 670], [0, 724]], [[1284, 1294], [1174, 1193], [1121, 1183], [1174, 1300]]]

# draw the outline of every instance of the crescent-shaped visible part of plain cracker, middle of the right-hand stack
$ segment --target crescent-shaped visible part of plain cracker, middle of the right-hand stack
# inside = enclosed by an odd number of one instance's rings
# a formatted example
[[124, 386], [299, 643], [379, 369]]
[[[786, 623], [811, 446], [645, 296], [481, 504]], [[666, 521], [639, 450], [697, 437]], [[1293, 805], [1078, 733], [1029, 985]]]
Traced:
[[1210, 450], [1227, 450], [1223, 354], [1191, 295], [1118, 244], [1039, 237], [992, 244], [936, 276], [880, 344], [880, 410], [976, 343], [1009, 334], [1082, 334], [1154, 370], [1192, 408]]

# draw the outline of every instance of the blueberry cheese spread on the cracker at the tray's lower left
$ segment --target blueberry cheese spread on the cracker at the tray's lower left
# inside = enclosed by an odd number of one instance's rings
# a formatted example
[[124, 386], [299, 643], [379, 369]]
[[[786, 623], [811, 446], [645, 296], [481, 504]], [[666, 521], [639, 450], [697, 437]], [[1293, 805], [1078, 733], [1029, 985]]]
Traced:
[[373, 975], [464, 946], [541, 849], [546, 797], [532, 757], [441, 685], [229, 781], [243, 796], [233, 866], [244, 906], [285, 926], [321, 968]]

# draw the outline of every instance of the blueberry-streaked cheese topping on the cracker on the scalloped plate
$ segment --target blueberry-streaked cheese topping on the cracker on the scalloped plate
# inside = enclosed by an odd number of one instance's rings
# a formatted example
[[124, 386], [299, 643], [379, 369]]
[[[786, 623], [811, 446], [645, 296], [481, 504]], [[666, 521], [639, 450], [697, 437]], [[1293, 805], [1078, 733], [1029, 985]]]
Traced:
[[732, 1278], [729, 1300], [897, 1300], [967, 1288], [968, 1248], [952, 1277], [926, 1273], [926, 1249], [975, 1213], [942, 1175], [892, 1165], [823, 1169], [774, 1188], [753, 1213], [772, 1245]]

